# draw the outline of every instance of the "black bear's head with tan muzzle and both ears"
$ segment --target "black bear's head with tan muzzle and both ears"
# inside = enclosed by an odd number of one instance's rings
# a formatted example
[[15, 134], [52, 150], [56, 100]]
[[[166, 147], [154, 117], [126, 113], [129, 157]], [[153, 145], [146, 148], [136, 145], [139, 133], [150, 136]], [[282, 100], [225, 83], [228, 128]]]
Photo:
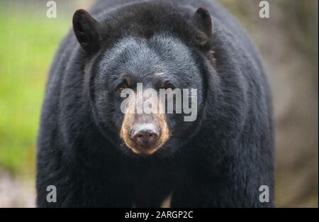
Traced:
[[210, 14], [153, 2], [96, 19], [82, 9], [73, 17], [96, 126], [125, 153], [172, 155], [203, 119]]

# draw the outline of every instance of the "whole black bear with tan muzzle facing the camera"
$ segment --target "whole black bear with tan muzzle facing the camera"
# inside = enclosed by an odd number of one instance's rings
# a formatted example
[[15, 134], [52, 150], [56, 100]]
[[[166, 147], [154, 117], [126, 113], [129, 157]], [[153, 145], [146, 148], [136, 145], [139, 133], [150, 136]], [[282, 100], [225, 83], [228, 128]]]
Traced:
[[[122, 94], [138, 89], [164, 89], [164, 100], [149, 97], [161, 110], [175, 89], [196, 89], [182, 100], [184, 107], [196, 97], [188, 104], [196, 109], [179, 113], [175, 104], [170, 113], [134, 112], [130, 107], [140, 100], [123, 106]], [[222, 6], [99, 1], [89, 13], [74, 13], [50, 70], [38, 134], [37, 204], [272, 207], [273, 149], [262, 62]], [[50, 185], [57, 192], [52, 202]]]

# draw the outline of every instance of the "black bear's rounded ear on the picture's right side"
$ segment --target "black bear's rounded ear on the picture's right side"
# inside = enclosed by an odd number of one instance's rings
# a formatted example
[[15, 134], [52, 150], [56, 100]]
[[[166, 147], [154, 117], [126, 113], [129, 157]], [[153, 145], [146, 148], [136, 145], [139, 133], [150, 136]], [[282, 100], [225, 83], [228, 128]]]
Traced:
[[200, 7], [193, 16], [193, 23], [199, 31], [194, 33], [194, 39], [199, 45], [206, 45], [211, 38], [213, 22], [206, 8]]

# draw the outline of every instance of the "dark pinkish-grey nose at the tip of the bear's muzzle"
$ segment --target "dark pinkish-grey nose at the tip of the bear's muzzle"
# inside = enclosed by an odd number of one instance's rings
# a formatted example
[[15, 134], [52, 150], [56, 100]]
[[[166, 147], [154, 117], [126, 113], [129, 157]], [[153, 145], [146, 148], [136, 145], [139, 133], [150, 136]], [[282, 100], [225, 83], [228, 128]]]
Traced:
[[142, 124], [135, 127], [131, 134], [133, 143], [142, 149], [155, 148], [159, 133], [154, 124]]

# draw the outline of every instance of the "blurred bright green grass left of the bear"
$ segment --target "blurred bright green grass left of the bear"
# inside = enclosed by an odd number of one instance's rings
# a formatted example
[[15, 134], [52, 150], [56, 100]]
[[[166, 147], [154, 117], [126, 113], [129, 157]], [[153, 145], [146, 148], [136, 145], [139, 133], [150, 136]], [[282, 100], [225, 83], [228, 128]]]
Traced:
[[0, 4], [0, 168], [15, 174], [35, 170], [47, 72], [71, 21], [45, 10]]

